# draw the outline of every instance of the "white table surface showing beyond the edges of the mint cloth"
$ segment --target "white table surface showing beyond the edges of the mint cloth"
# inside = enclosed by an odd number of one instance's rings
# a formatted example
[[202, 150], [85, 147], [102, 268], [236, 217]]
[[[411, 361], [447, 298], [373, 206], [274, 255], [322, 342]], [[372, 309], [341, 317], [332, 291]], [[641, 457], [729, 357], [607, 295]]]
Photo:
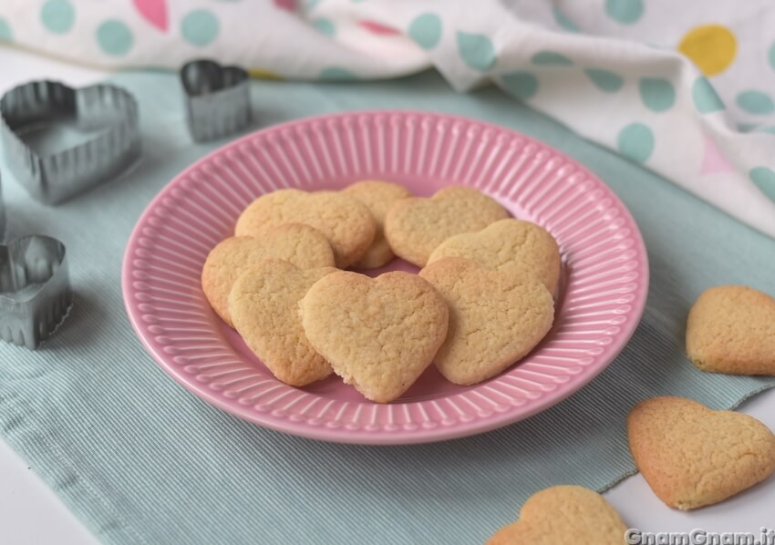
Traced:
[[[30, 79], [55, 78], [71, 85], [83, 85], [106, 73], [75, 67], [0, 46], [0, 93]], [[770, 429], [775, 429], [775, 390], [765, 392], [742, 407]], [[35, 468], [0, 439], [0, 543], [32, 545], [89, 545], [97, 543], [37, 478]], [[627, 478], [605, 493], [626, 523], [645, 531], [708, 532], [747, 531], [758, 533], [762, 526], [775, 528], [775, 478], [770, 478], [738, 497], [691, 513], [667, 508], [640, 476]], [[493, 531], [496, 529], [493, 529]]]

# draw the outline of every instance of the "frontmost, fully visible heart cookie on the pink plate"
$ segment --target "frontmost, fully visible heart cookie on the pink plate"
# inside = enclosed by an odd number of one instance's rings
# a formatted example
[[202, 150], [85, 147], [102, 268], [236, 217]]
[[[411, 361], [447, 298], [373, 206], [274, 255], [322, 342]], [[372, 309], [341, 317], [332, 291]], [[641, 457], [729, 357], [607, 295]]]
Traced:
[[433, 361], [447, 334], [441, 295], [416, 274], [369, 278], [334, 272], [301, 303], [307, 339], [346, 384], [387, 403], [407, 391]]

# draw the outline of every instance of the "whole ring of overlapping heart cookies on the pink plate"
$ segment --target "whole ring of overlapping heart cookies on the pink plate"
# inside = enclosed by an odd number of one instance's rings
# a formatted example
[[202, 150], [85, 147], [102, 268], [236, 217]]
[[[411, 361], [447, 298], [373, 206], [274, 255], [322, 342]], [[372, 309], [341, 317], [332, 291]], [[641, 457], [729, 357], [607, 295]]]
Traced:
[[[346, 271], [396, 256], [419, 273]], [[365, 180], [253, 201], [208, 256], [202, 288], [278, 380], [336, 373], [387, 403], [433, 363], [473, 385], [522, 359], [552, 327], [559, 278], [552, 235], [480, 191], [426, 199]]]

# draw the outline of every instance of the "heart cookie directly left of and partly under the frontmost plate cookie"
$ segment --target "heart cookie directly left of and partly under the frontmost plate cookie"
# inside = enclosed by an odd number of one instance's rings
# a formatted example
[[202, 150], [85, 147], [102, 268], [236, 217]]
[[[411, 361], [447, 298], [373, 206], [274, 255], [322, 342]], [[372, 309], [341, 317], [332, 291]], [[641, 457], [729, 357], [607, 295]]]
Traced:
[[237, 333], [277, 380], [306, 386], [331, 374], [331, 365], [306, 340], [299, 301], [334, 267], [299, 269], [289, 262], [265, 260], [243, 272], [229, 294]]

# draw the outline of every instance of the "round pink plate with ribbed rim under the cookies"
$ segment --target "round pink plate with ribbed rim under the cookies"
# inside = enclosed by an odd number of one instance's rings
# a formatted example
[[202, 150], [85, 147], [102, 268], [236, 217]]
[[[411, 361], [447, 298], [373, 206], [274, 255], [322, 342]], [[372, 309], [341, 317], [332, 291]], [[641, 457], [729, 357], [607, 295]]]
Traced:
[[[202, 263], [241, 211], [280, 188], [394, 180], [429, 196], [470, 185], [550, 231], [563, 254], [552, 332], [519, 365], [476, 386], [430, 368], [398, 401], [368, 402], [336, 376], [285, 386], [212, 312]], [[408, 269], [403, 262], [391, 268]], [[416, 269], [415, 269], [416, 270]], [[509, 129], [405, 111], [309, 118], [260, 130], [184, 170], [150, 204], [123, 267], [129, 318], [150, 354], [197, 396], [264, 427], [361, 444], [464, 437], [553, 406], [624, 347], [643, 314], [646, 248], [625, 205], [572, 159]]]

